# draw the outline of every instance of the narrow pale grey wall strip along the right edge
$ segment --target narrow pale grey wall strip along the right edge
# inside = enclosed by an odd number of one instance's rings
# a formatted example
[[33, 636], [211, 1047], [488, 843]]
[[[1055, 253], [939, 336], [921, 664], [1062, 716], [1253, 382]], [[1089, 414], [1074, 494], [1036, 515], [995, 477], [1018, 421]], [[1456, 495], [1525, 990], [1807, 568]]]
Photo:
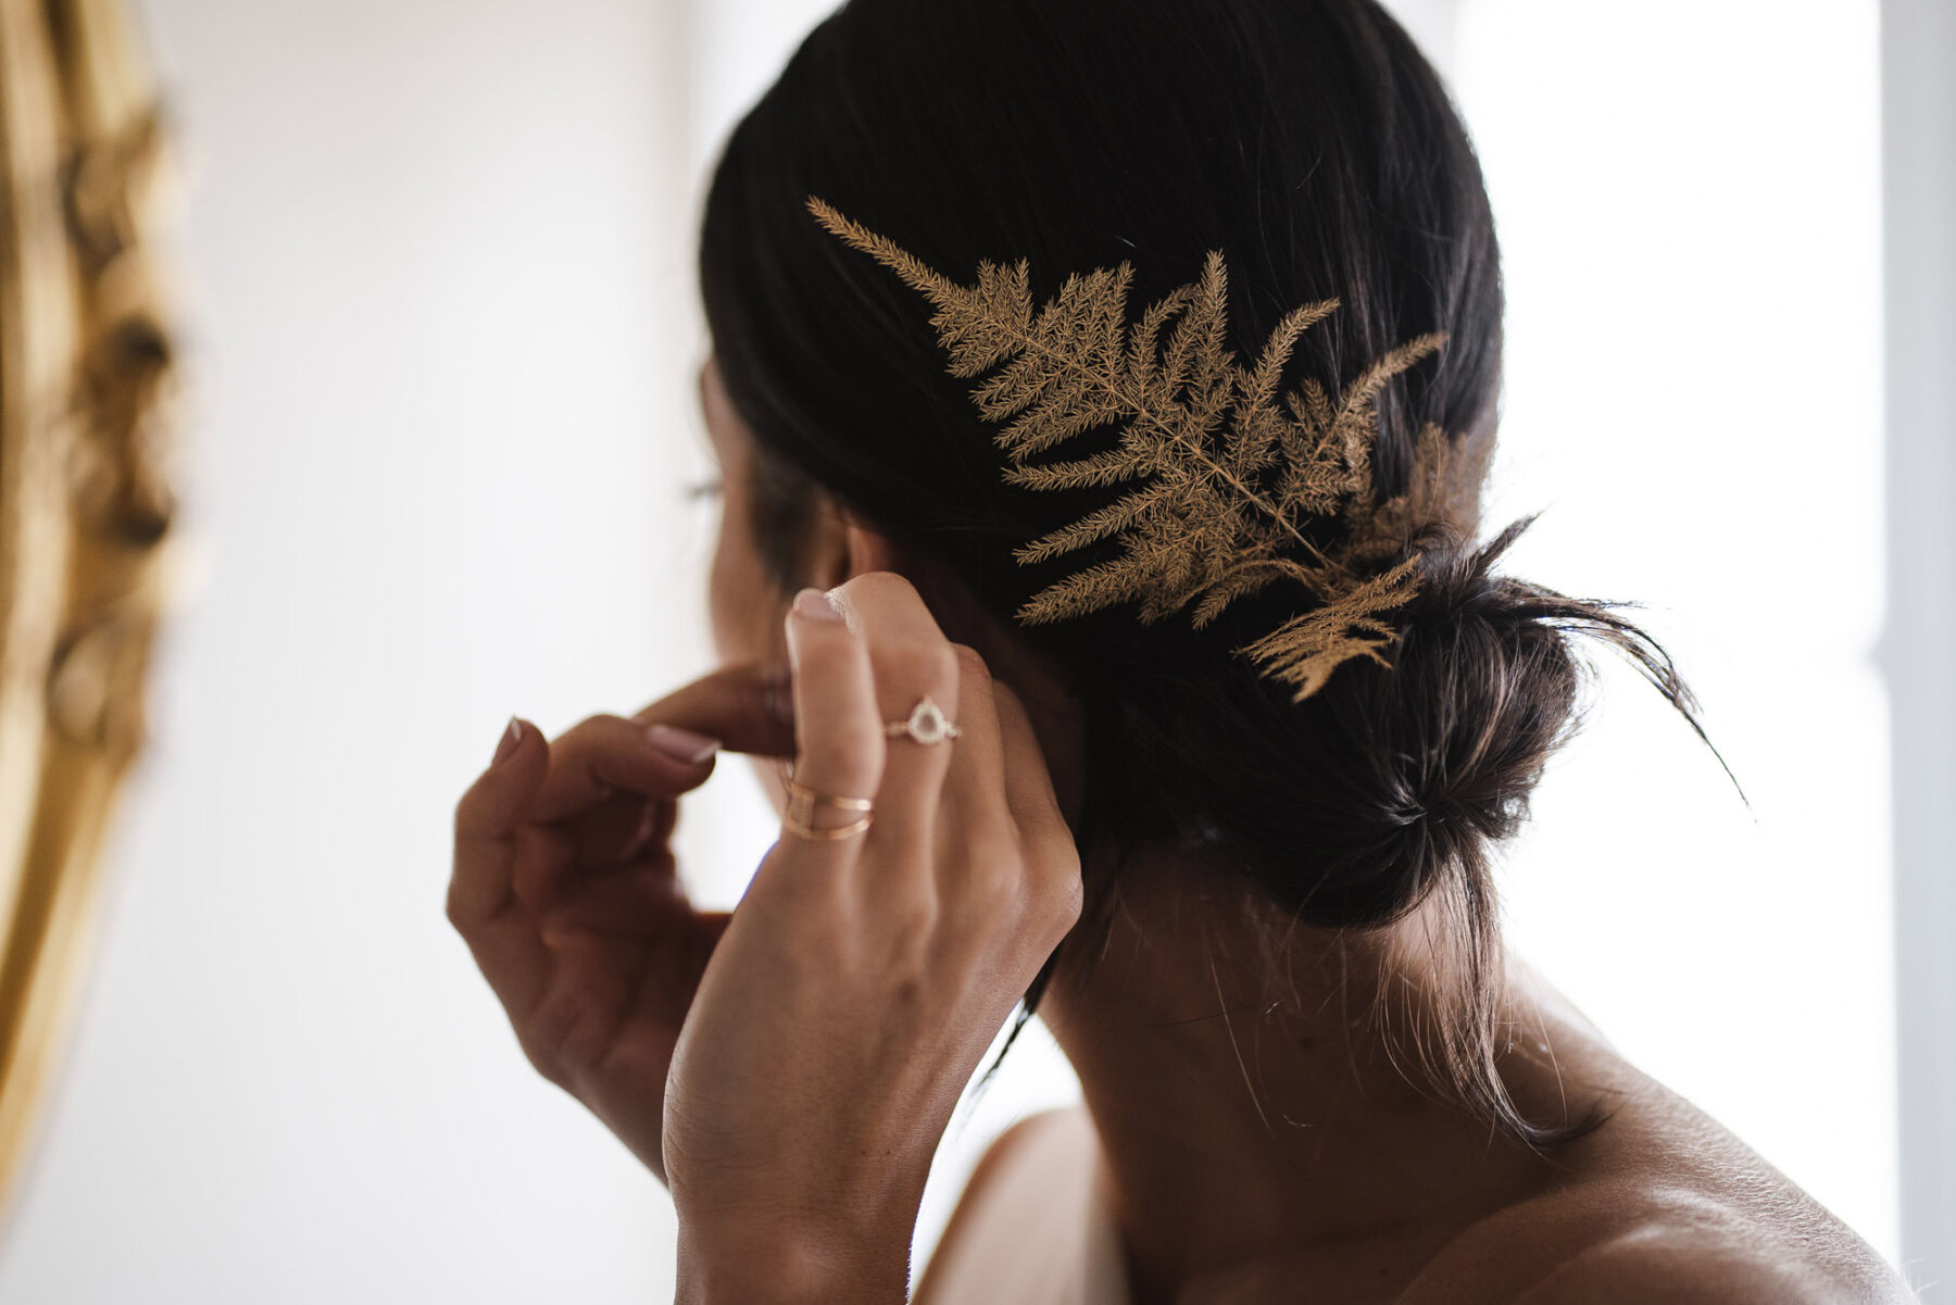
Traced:
[[1956, 1293], [1956, 6], [1882, 2], [1901, 1248]]

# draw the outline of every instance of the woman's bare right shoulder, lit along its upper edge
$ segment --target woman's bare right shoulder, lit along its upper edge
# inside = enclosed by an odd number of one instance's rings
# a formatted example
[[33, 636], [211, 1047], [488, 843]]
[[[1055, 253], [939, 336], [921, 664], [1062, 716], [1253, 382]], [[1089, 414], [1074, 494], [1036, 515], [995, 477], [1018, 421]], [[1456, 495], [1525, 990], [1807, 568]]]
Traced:
[[1848, 1225], [1663, 1086], [1565, 1176], [1465, 1229], [1399, 1305], [1913, 1305]]

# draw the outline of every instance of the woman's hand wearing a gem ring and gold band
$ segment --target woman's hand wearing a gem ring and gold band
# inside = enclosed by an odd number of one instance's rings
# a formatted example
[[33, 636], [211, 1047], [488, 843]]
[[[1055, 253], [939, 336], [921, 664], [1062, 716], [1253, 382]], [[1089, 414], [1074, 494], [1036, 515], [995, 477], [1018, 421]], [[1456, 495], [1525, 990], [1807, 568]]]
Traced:
[[[900, 575], [833, 599], [788, 616], [794, 779], [872, 822], [784, 832], [698, 978], [665, 1098], [681, 1299], [904, 1301], [939, 1137], [1080, 914], [1019, 700]], [[888, 738], [925, 697], [960, 738]]]

